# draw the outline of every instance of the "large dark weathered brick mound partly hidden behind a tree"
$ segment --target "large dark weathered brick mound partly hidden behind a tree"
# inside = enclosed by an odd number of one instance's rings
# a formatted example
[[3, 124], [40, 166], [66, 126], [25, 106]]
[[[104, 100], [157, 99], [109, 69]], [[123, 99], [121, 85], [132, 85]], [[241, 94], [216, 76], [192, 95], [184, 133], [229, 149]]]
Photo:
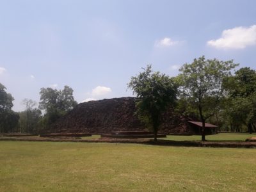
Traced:
[[[134, 97], [92, 100], [78, 104], [54, 125], [55, 132], [109, 133], [113, 131], [148, 131], [141, 124], [135, 111]], [[159, 131], [168, 133], [189, 133], [184, 116], [172, 109], [163, 115]]]

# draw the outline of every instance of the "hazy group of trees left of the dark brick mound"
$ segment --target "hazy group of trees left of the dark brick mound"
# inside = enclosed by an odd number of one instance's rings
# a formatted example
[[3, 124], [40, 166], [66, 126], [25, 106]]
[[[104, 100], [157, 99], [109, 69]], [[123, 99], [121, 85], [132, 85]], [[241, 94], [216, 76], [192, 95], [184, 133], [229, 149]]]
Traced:
[[22, 100], [25, 110], [12, 111], [13, 97], [0, 84], [0, 132], [35, 133], [52, 132], [51, 125], [76, 106], [73, 90], [64, 86], [63, 90], [41, 88], [40, 102]]

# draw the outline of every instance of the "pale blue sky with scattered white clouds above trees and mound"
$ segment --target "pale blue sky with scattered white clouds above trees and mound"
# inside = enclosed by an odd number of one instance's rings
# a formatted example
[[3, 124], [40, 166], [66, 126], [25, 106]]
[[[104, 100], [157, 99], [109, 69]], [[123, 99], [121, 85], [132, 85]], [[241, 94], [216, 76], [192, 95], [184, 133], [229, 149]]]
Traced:
[[256, 69], [256, 1], [0, 0], [0, 83], [14, 111], [43, 87], [68, 85], [77, 102], [132, 96], [142, 67], [177, 76], [203, 55]]

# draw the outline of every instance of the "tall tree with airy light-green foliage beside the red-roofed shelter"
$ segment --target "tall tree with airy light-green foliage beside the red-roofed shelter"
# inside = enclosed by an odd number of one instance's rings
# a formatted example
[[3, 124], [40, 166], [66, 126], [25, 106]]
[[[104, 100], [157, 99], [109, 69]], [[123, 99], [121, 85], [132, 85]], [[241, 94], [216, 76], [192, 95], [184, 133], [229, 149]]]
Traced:
[[202, 56], [193, 63], [185, 63], [177, 77], [180, 97], [188, 100], [190, 108], [196, 109], [202, 121], [202, 141], [205, 141], [205, 120], [219, 109], [223, 97], [223, 79], [231, 76], [230, 70], [237, 64], [230, 61], [205, 60]]

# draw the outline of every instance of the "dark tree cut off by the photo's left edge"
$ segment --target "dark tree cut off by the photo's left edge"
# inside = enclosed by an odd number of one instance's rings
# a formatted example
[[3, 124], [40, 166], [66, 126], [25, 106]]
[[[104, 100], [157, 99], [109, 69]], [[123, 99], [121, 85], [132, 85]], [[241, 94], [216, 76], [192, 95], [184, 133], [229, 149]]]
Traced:
[[14, 99], [5, 90], [5, 86], [0, 83], [0, 132], [13, 132], [17, 127], [19, 115], [12, 111]]

